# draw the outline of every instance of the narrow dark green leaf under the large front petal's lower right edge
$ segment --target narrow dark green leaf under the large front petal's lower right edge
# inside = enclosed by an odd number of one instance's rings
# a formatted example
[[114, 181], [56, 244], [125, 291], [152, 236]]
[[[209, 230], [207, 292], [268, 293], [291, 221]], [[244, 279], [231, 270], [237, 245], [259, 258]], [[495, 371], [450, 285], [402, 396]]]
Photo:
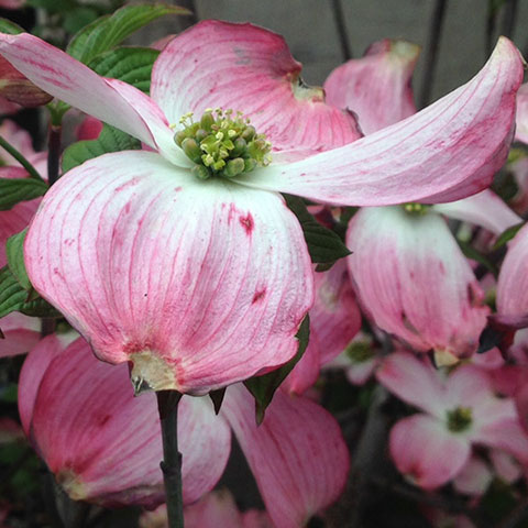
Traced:
[[262, 424], [267, 406], [272, 403], [273, 395], [279, 385], [286, 380], [294, 366], [302, 358], [310, 339], [310, 318], [308, 314], [300, 323], [299, 331], [295, 336], [299, 341], [297, 353], [285, 365], [276, 371], [262, 376], [255, 376], [244, 382], [250, 393], [255, 398], [256, 422]]

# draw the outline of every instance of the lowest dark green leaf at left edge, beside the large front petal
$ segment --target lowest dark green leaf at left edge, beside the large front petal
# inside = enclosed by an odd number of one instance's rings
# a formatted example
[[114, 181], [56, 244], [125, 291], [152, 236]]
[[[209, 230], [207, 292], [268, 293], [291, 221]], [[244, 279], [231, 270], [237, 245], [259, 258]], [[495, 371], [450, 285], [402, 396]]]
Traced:
[[11, 270], [3, 266], [0, 270], [0, 318], [12, 311], [32, 317], [61, 317], [43, 298], [29, 300], [28, 290], [16, 280]]

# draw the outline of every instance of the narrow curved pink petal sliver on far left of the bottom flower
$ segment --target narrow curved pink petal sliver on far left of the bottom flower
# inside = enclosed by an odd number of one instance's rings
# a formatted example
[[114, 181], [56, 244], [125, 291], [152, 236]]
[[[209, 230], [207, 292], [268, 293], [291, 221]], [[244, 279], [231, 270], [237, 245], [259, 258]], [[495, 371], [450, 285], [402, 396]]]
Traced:
[[42, 339], [24, 361], [19, 380], [19, 415], [28, 437], [42, 377], [50, 363], [66, 349], [70, 340], [69, 334], [52, 333]]

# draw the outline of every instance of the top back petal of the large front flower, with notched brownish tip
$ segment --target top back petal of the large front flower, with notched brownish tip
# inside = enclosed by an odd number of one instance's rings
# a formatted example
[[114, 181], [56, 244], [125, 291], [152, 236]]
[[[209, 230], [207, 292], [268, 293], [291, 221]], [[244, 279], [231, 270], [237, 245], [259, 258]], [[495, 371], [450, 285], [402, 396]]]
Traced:
[[177, 35], [152, 72], [151, 94], [168, 120], [207, 108], [244, 112], [275, 150], [327, 150], [361, 136], [351, 113], [300, 79], [284, 38], [251, 24], [207, 20]]

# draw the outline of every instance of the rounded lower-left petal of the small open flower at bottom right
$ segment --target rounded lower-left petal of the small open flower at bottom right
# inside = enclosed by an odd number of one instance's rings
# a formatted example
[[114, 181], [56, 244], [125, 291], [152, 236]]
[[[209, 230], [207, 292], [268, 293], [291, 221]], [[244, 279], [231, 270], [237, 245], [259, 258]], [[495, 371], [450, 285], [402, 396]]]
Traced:
[[398, 471], [425, 490], [447, 484], [471, 454], [464, 437], [426, 415], [399, 420], [391, 430], [389, 449]]

